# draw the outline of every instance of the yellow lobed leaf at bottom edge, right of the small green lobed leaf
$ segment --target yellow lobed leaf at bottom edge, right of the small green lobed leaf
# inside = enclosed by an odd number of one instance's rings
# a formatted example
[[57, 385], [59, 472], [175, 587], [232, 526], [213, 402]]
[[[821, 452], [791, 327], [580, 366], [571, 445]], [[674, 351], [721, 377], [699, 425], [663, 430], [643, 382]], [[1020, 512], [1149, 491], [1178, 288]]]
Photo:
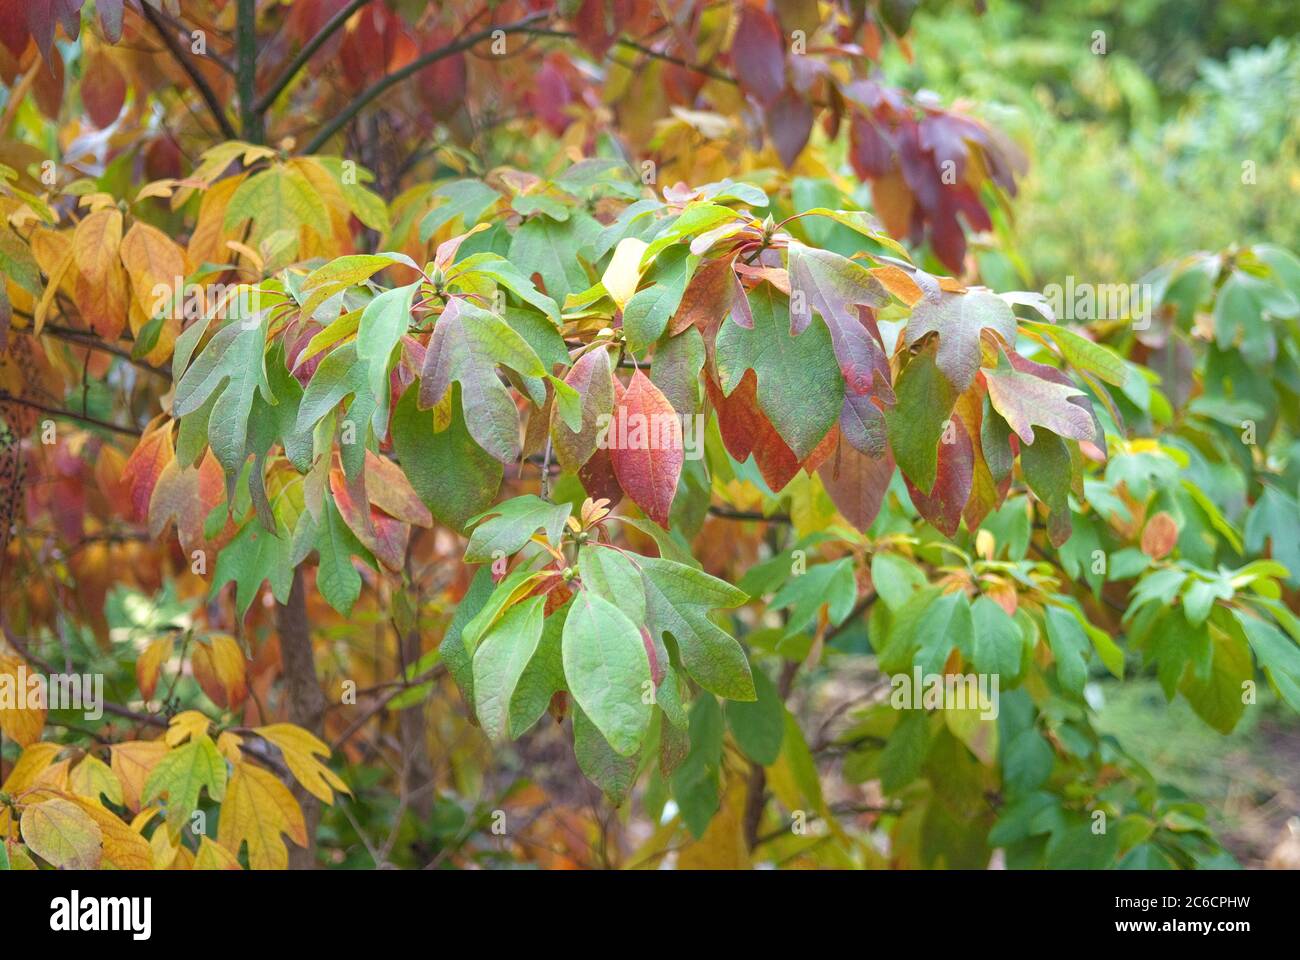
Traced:
[[289, 866], [286, 834], [299, 847], [307, 846], [303, 812], [289, 787], [252, 764], [235, 764], [234, 777], [221, 807], [217, 842], [238, 851], [248, 844], [248, 866], [254, 870], [283, 870]]

